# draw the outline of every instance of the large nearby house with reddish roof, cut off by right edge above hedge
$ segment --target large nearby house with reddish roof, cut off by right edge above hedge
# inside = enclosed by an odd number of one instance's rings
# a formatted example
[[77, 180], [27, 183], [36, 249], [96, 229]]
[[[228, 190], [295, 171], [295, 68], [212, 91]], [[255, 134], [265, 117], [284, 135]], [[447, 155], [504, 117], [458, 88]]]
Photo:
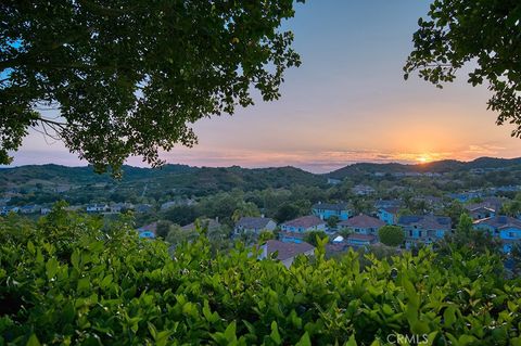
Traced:
[[514, 243], [521, 242], [521, 220], [509, 216], [494, 216], [474, 221], [475, 230], [487, 231], [503, 243], [503, 251], [509, 253]]

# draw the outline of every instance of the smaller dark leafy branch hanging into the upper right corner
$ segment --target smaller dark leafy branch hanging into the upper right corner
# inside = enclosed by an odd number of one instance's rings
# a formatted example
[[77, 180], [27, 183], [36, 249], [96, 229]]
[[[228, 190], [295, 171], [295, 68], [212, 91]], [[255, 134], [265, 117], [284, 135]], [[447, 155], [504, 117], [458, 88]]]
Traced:
[[435, 0], [418, 21], [415, 49], [404, 67], [442, 87], [466, 64], [472, 86], [485, 80], [494, 93], [488, 108], [497, 124], [516, 125], [521, 137], [521, 3], [518, 0]]

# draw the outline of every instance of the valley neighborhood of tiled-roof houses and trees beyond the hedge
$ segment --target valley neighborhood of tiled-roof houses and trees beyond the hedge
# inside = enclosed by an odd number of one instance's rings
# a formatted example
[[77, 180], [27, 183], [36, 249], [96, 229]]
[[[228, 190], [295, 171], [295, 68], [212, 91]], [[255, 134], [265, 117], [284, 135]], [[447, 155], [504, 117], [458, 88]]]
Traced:
[[[376, 167], [378, 169], [378, 165]], [[510, 178], [501, 178], [497, 171]], [[196, 190], [188, 194], [177, 188], [165, 189], [147, 177], [141, 188], [134, 183], [119, 194], [116, 192], [120, 188], [111, 187], [106, 181], [91, 183], [88, 191], [97, 191], [94, 201], [73, 202], [66, 208], [100, 218], [132, 215], [139, 236], [149, 240], [167, 239], [168, 232], [176, 230], [178, 233], [168, 239], [180, 241], [183, 236], [179, 232], [195, 234], [201, 228], [229, 244], [234, 241], [254, 244], [269, 238], [304, 244], [313, 242], [316, 234], [325, 234], [331, 253], [381, 245], [379, 231], [385, 226], [402, 230], [404, 241], [398, 247], [403, 249], [432, 246], [452, 236], [460, 215], [467, 214], [473, 229], [487, 231], [501, 244], [501, 251], [509, 253], [521, 242], [518, 171], [521, 178], [521, 167], [516, 165], [501, 170], [472, 168], [458, 174], [354, 170], [343, 178], [306, 174], [313, 183], [292, 185], [291, 180], [284, 180], [283, 188], [279, 189], [217, 190], [199, 196]], [[132, 194], [136, 190], [140, 191], [139, 197]], [[40, 182], [23, 188], [11, 184], [0, 191], [0, 215], [17, 214], [37, 219], [51, 213], [53, 205], [38, 198], [39, 193], [67, 198], [86, 191], [81, 184], [62, 181], [49, 188]], [[151, 193], [154, 197], [148, 196]], [[297, 193], [295, 200], [293, 195]], [[132, 197], [125, 198], [126, 194]]]

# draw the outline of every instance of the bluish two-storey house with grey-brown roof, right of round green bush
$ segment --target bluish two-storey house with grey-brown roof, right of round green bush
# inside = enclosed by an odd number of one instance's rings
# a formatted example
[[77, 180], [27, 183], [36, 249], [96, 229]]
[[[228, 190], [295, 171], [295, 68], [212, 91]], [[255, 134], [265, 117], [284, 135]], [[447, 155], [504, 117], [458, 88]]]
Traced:
[[418, 244], [432, 244], [452, 231], [450, 218], [447, 216], [402, 216], [397, 225], [404, 229], [406, 248]]

